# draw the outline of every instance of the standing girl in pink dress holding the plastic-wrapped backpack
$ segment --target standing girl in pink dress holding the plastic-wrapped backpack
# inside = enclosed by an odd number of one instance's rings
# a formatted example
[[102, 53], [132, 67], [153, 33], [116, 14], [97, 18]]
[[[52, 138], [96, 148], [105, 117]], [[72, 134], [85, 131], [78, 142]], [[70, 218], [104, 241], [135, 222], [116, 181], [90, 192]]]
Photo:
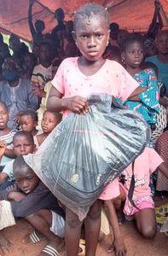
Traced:
[[[67, 58], [61, 62], [50, 90], [47, 108], [61, 112], [64, 116], [75, 112], [87, 113], [87, 96], [108, 93], [125, 101], [138, 87], [125, 68], [116, 61], [104, 60], [102, 55], [109, 39], [108, 13], [101, 5], [89, 3], [74, 15], [72, 32], [80, 57]], [[86, 218], [80, 222], [78, 216], [66, 209], [67, 256], [78, 255], [81, 226], [85, 225], [86, 255], [94, 256], [101, 223], [101, 201], [90, 207]]]

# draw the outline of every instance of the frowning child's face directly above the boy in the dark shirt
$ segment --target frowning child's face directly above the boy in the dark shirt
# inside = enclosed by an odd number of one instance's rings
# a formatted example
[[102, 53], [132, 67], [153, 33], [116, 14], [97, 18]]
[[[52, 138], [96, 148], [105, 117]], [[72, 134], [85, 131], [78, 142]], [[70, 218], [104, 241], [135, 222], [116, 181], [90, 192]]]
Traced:
[[33, 153], [35, 150], [35, 145], [32, 144], [25, 136], [14, 137], [13, 144], [14, 154], [16, 156]]

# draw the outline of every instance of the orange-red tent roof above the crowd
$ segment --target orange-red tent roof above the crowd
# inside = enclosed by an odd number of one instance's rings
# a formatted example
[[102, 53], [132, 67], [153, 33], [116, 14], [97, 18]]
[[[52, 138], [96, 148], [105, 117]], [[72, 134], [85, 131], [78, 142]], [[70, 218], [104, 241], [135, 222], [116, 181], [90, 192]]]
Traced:
[[[33, 20], [44, 20], [45, 32], [50, 32], [56, 26], [55, 9], [65, 10], [65, 20], [71, 20], [71, 14], [83, 3], [110, 3], [106, 0], [35, 0], [32, 8]], [[168, 0], [160, 0], [168, 15]], [[27, 12], [29, 0], [1, 0], [0, 1], [0, 30], [6, 33], [18, 34], [20, 38], [32, 40], [28, 26]], [[119, 23], [121, 28], [145, 31], [154, 15], [154, 0], [113, 0], [110, 9], [110, 21]]]

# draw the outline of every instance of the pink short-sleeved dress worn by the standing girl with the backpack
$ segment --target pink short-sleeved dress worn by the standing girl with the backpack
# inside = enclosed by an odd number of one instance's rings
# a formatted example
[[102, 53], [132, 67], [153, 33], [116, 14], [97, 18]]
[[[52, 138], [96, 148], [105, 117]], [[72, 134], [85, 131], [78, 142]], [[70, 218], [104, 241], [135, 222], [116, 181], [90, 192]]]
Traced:
[[[83, 96], [107, 93], [125, 101], [136, 90], [139, 84], [116, 61], [106, 60], [102, 67], [93, 75], [86, 76], [78, 68], [78, 57], [67, 58], [61, 62], [60, 67], [51, 82], [56, 90], [64, 97]], [[64, 115], [70, 113], [65, 111]], [[116, 191], [112, 193], [113, 184]], [[109, 183], [101, 195], [102, 200], [114, 198], [119, 190], [116, 182]]]

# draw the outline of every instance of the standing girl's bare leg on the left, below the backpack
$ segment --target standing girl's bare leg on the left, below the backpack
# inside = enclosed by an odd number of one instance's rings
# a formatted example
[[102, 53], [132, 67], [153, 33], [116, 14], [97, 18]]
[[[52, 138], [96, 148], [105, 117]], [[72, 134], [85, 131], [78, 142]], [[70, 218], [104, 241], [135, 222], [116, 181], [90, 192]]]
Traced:
[[67, 256], [78, 256], [78, 244], [83, 222], [78, 215], [66, 208], [66, 247]]

